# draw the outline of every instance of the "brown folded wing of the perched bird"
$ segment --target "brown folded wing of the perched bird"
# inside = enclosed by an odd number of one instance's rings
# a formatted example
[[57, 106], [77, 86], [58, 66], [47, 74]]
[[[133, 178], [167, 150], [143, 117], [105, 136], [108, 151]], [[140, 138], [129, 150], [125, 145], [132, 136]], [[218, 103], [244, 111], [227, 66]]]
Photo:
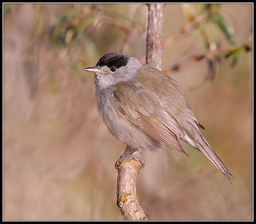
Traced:
[[114, 96], [119, 115], [162, 144], [188, 156], [178, 140], [184, 136], [180, 124], [160, 106], [156, 96], [128, 82], [117, 85]]

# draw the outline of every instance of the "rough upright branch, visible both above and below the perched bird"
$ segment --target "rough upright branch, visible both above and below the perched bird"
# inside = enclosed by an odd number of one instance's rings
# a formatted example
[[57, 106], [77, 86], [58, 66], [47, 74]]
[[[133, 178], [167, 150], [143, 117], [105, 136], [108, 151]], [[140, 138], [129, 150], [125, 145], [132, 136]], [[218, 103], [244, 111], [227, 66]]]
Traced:
[[[146, 63], [161, 69], [162, 57], [162, 23], [163, 4], [148, 5], [148, 34]], [[132, 151], [127, 146], [124, 154]], [[119, 160], [116, 163], [117, 178], [117, 206], [125, 220], [148, 220], [141, 209], [136, 196], [136, 177], [140, 173], [141, 163], [134, 159]]]

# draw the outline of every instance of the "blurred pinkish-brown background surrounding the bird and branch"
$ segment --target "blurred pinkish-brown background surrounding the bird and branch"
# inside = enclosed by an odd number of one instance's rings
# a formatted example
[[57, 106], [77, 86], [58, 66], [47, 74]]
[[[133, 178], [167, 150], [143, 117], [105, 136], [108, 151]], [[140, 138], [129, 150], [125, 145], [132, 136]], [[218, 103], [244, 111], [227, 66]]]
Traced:
[[[169, 71], [209, 50], [250, 43], [252, 6], [214, 6], [229, 24], [232, 36], [225, 36], [210, 20], [200, 23], [201, 29], [180, 32], [202, 6], [166, 4], [163, 42], [169, 42], [163, 48], [162, 69]], [[124, 220], [116, 206], [114, 164], [125, 145], [103, 124], [93, 74], [82, 69], [95, 66], [110, 51], [144, 62], [148, 7], [3, 4], [3, 13], [3, 219]], [[168, 148], [144, 152], [146, 166], [136, 188], [149, 220], [252, 220], [248, 50], [217, 57], [212, 64], [185, 63], [169, 73], [235, 179], [231, 185], [202, 153], [183, 142], [189, 157]]]

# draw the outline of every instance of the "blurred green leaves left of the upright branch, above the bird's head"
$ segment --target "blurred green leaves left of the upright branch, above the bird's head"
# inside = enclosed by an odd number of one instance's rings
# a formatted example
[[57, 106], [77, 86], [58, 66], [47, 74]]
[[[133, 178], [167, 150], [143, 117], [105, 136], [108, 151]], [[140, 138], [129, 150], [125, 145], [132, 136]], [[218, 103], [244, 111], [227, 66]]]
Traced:
[[90, 36], [88, 33], [90, 27], [96, 31], [110, 25], [127, 33], [135, 25], [137, 32], [145, 31], [145, 24], [136, 22], [136, 12], [131, 20], [107, 5], [74, 4], [55, 26], [52, 34], [53, 43], [56, 46], [70, 47], [76, 41], [84, 42], [87, 36]]

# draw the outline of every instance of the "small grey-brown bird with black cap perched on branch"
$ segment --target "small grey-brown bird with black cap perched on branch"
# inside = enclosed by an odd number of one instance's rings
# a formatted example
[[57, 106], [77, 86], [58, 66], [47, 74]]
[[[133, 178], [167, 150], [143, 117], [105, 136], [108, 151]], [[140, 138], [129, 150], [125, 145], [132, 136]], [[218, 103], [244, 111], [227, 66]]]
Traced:
[[204, 153], [230, 182], [234, 178], [200, 132], [204, 127], [174, 79], [123, 52], [109, 52], [83, 70], [95, 73], [96, 100], [109, 132], [127, 144], [130, 153], [122, 159], [141, 161], [143, 150], [154, 152], [163, 145], [188, 156], [181, 139]]

